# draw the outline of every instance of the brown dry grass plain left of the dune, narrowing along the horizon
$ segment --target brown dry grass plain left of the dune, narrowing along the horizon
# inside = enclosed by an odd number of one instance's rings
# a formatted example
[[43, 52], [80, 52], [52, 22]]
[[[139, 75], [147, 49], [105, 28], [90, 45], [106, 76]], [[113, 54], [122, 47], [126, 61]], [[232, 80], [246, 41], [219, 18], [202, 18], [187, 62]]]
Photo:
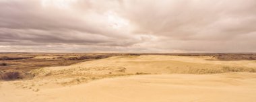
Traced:
[[32, 78], [32, 74], [28, 74], [28, 72], [37, 68], [68, 66], [79, 62], [122, 55], [100, 53], [0, 53], [0, 67], [3, 72], [12, 72], [15, 70], [20, 72], [24, 76], [24, 79], [30, 79]]

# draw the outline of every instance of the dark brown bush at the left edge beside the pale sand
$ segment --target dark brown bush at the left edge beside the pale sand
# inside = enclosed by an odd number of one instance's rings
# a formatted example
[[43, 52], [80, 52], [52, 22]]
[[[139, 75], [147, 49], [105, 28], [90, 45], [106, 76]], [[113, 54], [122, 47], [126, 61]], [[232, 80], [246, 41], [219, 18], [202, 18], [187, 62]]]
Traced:
[[22, 79], [22, 76], [19, 72], [5, 72], [1, 74], [0, 79], [4, 81], [11, 81], [15, 79]]

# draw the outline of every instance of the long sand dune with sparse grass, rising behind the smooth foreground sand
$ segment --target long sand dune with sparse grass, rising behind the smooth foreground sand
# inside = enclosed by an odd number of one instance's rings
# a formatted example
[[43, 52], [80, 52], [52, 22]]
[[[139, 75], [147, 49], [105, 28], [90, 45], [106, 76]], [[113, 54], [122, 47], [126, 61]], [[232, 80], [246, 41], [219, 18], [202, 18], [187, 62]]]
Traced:
[[135, 74], [137, 72], [146, 74], [256, 72], [256, 62], [255, 60], [222, 61], [210, 56], [117, 56], [32, 71], [36, 77], [106, 76], [109, 73]]

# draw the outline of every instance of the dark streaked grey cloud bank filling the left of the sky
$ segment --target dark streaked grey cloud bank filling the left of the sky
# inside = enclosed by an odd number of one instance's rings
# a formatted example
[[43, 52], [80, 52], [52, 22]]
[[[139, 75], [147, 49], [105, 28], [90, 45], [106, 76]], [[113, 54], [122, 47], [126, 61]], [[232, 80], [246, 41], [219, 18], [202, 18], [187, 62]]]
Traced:
[[[80, 14], [82, 12], [73, 9], [43, 6], [41, 1], [1, 1], [1, 42], [20, 40], [22, 45], [31, 42], [110, 46], [127, 46], [131, 43], [125, 41], [128, 43], [115, 44], [119, 38], [125, 39], [129, 36], [121, 35], [125, 32], [110, 30], [110, 27], [104, 24], [106, 22], [100, 22], [104, 20], [98, 17], [97, 13], [92, 15], [96, 17], [83, 18], [87, 13]], [[86, 9], [84, 11], [86, 12]]]

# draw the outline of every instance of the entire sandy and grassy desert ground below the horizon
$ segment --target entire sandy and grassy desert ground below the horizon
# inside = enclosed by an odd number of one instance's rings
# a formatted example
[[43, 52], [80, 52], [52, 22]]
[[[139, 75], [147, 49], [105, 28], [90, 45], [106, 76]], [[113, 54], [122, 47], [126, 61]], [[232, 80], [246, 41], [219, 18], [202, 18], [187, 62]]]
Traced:
[[255, 56], [2, 53], [0, 101], [254, 102]]

